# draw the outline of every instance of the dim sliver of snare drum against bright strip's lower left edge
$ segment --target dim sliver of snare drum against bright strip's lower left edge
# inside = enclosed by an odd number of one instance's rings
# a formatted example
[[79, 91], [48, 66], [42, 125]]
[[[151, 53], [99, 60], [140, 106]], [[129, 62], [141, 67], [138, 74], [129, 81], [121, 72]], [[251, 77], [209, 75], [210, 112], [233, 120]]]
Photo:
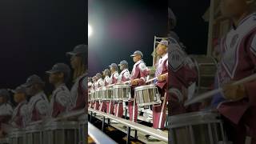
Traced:
[[86, 125], [88, 119], [86, 119], [86, 115], [82, 115], [78, 118], [78, 125], [79, 125], [79, 143], [78, 144], [86, 144]]

